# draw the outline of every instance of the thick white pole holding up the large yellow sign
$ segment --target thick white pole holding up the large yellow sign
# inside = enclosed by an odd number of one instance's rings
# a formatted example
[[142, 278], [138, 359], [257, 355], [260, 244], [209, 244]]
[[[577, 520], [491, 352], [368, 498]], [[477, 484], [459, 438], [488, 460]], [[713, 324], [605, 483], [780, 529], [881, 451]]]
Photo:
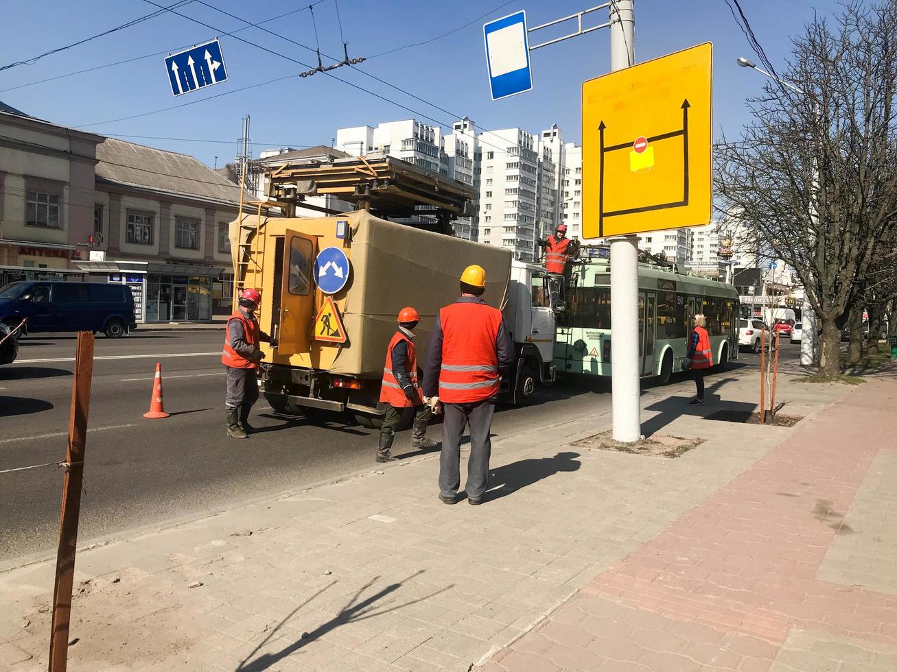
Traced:
[[[611, 70], [635, 65], [633, 0], [611, 0]], [[611, 246], [611, 404], [614, 440], [641, 435], [639, 366], [639, 239], [608, 238]]]

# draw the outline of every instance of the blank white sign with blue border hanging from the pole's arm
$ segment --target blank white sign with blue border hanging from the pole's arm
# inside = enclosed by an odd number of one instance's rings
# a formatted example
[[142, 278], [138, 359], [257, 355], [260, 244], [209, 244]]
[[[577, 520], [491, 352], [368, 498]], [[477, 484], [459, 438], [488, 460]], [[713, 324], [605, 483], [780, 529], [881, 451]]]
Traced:
[[486, 43], [486, 69], [489, 72], [492, 100], [532, 89], [527, 13], [513, 13], [484, 23], [483, 39]]

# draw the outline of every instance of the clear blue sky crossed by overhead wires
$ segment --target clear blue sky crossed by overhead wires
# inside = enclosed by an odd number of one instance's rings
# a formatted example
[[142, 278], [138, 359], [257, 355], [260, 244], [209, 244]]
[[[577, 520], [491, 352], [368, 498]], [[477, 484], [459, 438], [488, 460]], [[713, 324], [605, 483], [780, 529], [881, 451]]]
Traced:
[[[175, 2], [154, 1], [166, 5]], [[305, 7], [280, 21], [265, 23], [264, 27], [301, 44], [315, 45], [315, 30], [307, 9], [309, 0], [269, 0], [255, 4], [238, 0], [206, 2], [254, 23]], [[349, 56], [370, 57], [431, 39], [487, 12], [487, 18], [498, 18], [526, 9], [530, 25], [536, 25], [598, 3], [515, 0], [503, 7], [501, 4], [503, 0], [339, 0], [338, 6], [344, 36], [349, 42]], [[0, 44], [4, 48], [0, 65], [37, 56], [156, 10], [144, 0], [77, 3], [4, 0], [3, 5]], [[838, 9], [836, 0], [742, 0], [742, 6], [768, 56], [782, 68], [790, 53], [789, 38], [803, 30], [814, 11], [830, 14]], [[534, 52], [534, 90], [493, 102], [485, 74], [484, 20], [478, 20], [430, 44], [370, 57], [358, 66], [439, 108], [350, 68], [340, 68], [334, 74], [386, 100], [320, 73], [238, 91], [294, 75], [304, 68], [240, 42], [236, 37], [223, 35], [245, 28], [246, 24], [205, 4], [191, 2], [177, 11], [216, 30], [164, 13], [133, 28], [46, 56], [33, 65], [0, 71], [0, 100], [30, 115], [100, 134], [221, 141], [125, 138], [192, 154], [210, 166], [217, 156], [220, 166], [233, 159], [241, 118], [247, 114], [252, 118], [251, 137], [256, 154], [273, 146], [329, 144], [337, 127], [411, 116], [423, 121], [429, 116], [448, 127], [455, 118], [466, 115], [486, 128], [522, 126], [532, 133], [557, 123], [565, 140], [579, 142], [581, 84], [609, 69], [608, 32], [597, 30]], [[753, 58], [753, 54], [723, 0], [636, 0], [635, 12], [635, 53], [639, 62], [700, 42], [714, 43], [714, 125], [717, 132], [722, 129], [727, 134], [735, 134], [748, 119], [745, 98], [761, 89], [764, 78], [736, 65], [737, 56]], [[342, 40], [334, 0], [323, 0], [314, 13], [321, 50], [341, 56]], [[604, 22], [606, 13], [601, 14], [600, 21], [593, 21]], [[167, 52], [215, 36], [222, 39], [229, 81], [172, 98], [164, 67]], [[236, 36], [305, 64], [317, 65], [317, 57], [312, 52], [257, 28], [241, 30]], [[155, 52], [162, 53], [51, 82], [31, 83]], [[125, 121], [110, 121], [182, 103], [195, 104]], [[414, 113], [395, 103], [413, 109]]]

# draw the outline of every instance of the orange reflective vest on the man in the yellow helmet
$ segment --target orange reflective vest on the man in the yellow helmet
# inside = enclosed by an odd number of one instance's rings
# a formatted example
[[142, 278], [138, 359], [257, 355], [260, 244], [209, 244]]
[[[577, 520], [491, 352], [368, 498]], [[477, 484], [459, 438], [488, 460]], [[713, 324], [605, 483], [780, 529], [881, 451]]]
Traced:
[[440, 310], [440, 325], [440, 401], [475, 403], [498, 394], [501, 381], [495, 341], [501, 311], [483, 304], [452, 304]]

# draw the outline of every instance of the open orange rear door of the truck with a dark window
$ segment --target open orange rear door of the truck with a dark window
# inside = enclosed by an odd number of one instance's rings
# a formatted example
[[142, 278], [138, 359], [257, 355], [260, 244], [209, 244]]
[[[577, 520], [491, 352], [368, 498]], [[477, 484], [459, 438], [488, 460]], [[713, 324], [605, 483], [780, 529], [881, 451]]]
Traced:
[[318, 239], [287, 229], [283, 242], [277, 352], [292, 355], [309, 352], [311, 345], [311, 324], [315, 319], [313, 266], [318, 254]]

